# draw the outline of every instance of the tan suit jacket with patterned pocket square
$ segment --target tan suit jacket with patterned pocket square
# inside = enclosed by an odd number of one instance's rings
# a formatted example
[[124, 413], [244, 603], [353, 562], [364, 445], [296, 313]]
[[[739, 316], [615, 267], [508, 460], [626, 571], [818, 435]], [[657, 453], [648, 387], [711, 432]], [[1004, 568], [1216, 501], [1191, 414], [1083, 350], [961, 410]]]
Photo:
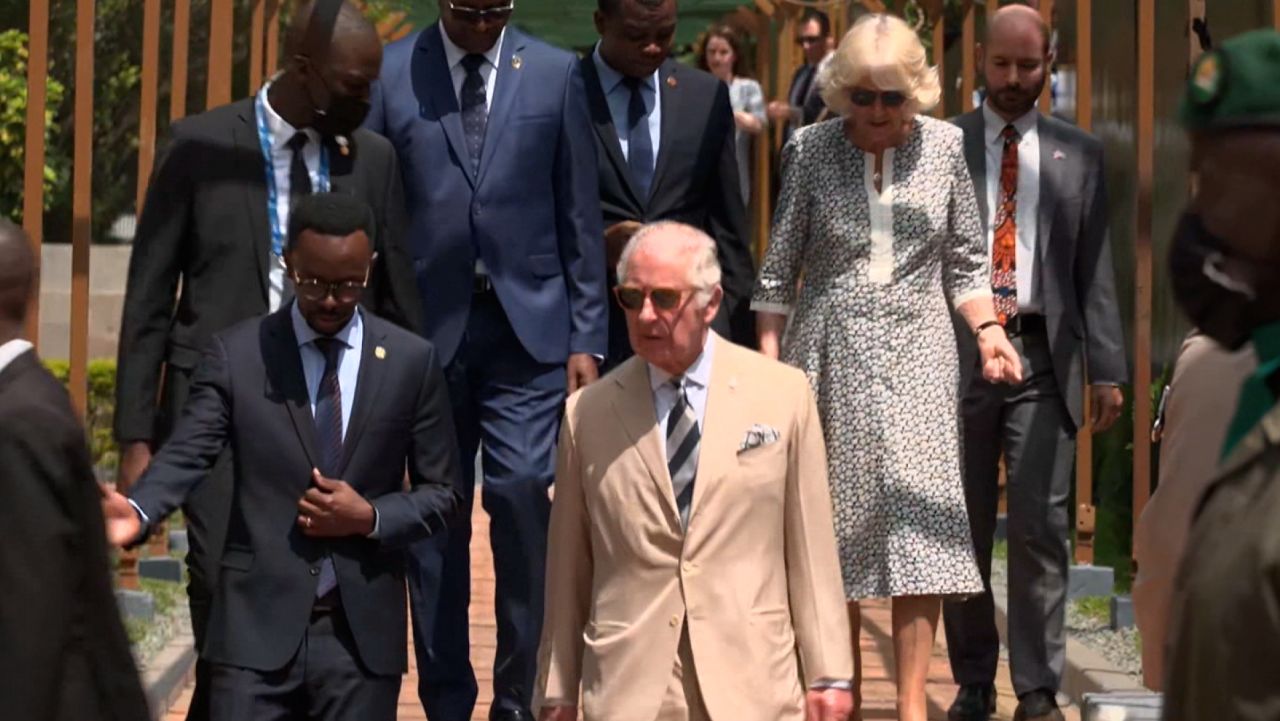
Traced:
[[[684, 626], [707, 712], [804, 718], [804, 688], [851, 679], [827, 456], [799, 370], [716, 337], [687, 531], [646, 364], [568, 400], [535, 707], [653, 721]], [[778, 441], [740, 451], [754, 425]]]

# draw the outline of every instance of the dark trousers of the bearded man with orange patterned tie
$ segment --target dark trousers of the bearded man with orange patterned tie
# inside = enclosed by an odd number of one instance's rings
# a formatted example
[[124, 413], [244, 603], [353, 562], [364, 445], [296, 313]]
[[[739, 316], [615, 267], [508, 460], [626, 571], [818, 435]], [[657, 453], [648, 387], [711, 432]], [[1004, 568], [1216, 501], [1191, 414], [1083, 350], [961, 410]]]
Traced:
[[974, 370], [961, 402], [964, 483], [984, 590], [943, 606], [951, 670], [959, 684], [996, 679], [1000, 635], [991, 595], [991, 553], [1005, 453], [1009, 501], [1009, 663], [1014, 690], [1056, 692], [1062, 679], [1068, 571], [1068, 498], [1075, 425], [1053, 377], [1048, 338], [1012, 339], [1024, 382], [992, 385]]

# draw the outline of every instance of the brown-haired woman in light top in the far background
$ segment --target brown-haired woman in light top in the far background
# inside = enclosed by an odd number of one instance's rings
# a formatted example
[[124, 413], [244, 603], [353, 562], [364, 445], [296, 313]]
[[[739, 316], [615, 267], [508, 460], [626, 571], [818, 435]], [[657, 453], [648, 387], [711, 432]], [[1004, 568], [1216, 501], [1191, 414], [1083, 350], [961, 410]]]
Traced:
[[742, 54], [742, 40], [728, 26], [712, 28], [703, 41], [698, 67], [728, 86], [728, 101], [733, 106], [733, 126], [737, 143], [737, 177], [742, 186], [742, 202], [751, 200], [751, 143], [768, 127], [764, 117], [764, 91], [751, 79]]

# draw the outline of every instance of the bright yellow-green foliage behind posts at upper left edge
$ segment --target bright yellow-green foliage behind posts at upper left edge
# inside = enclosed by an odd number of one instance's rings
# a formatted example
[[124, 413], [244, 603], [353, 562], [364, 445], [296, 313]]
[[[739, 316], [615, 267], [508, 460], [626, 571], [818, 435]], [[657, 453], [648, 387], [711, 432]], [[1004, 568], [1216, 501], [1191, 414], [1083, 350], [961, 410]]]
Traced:
[[[22, 223], [22, 182], [26, 173], [23, 159], [27, 143], [27, 33], [18, 29], [0, 32], [0, 214], [14, 223]], [[47, 96], [45, 123], [51, 126], [54, 111], [61, 104], [65, 88], [50, 78], [45, 86]], [[45, 133], [47, 143], [51, 132]], [[45, 158], [45, 207], [50, 206], [50, 193], [68, 177], [67, 158], [52, 154]]]

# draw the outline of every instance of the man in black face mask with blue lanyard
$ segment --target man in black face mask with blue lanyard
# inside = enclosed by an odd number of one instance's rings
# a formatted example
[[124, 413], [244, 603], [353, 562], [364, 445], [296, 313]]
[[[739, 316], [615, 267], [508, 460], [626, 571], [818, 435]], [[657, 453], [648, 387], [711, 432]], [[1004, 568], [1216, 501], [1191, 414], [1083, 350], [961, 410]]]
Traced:
[[[396, 156], [385, 140], [357, 129], [380, 68], [376, 32], [342, 0], [305, 1], [285, 36], [285, 58], [255, 97], [174, 124], [156, 163], [120, 329], [115, 434], [124, 487], [168, 437], [209, 338], [292, 297], [280, 256], [297, 197], [332, 190], [374, 209], [378, 261], [364, 301], [383, 318], [421, 328], [402, 247]], [[227, 533], [230, 465], [224, 457], [183, 506], [197, 648]], [[200, 663], [189, 718], [206, 715], [205, 677]]]

